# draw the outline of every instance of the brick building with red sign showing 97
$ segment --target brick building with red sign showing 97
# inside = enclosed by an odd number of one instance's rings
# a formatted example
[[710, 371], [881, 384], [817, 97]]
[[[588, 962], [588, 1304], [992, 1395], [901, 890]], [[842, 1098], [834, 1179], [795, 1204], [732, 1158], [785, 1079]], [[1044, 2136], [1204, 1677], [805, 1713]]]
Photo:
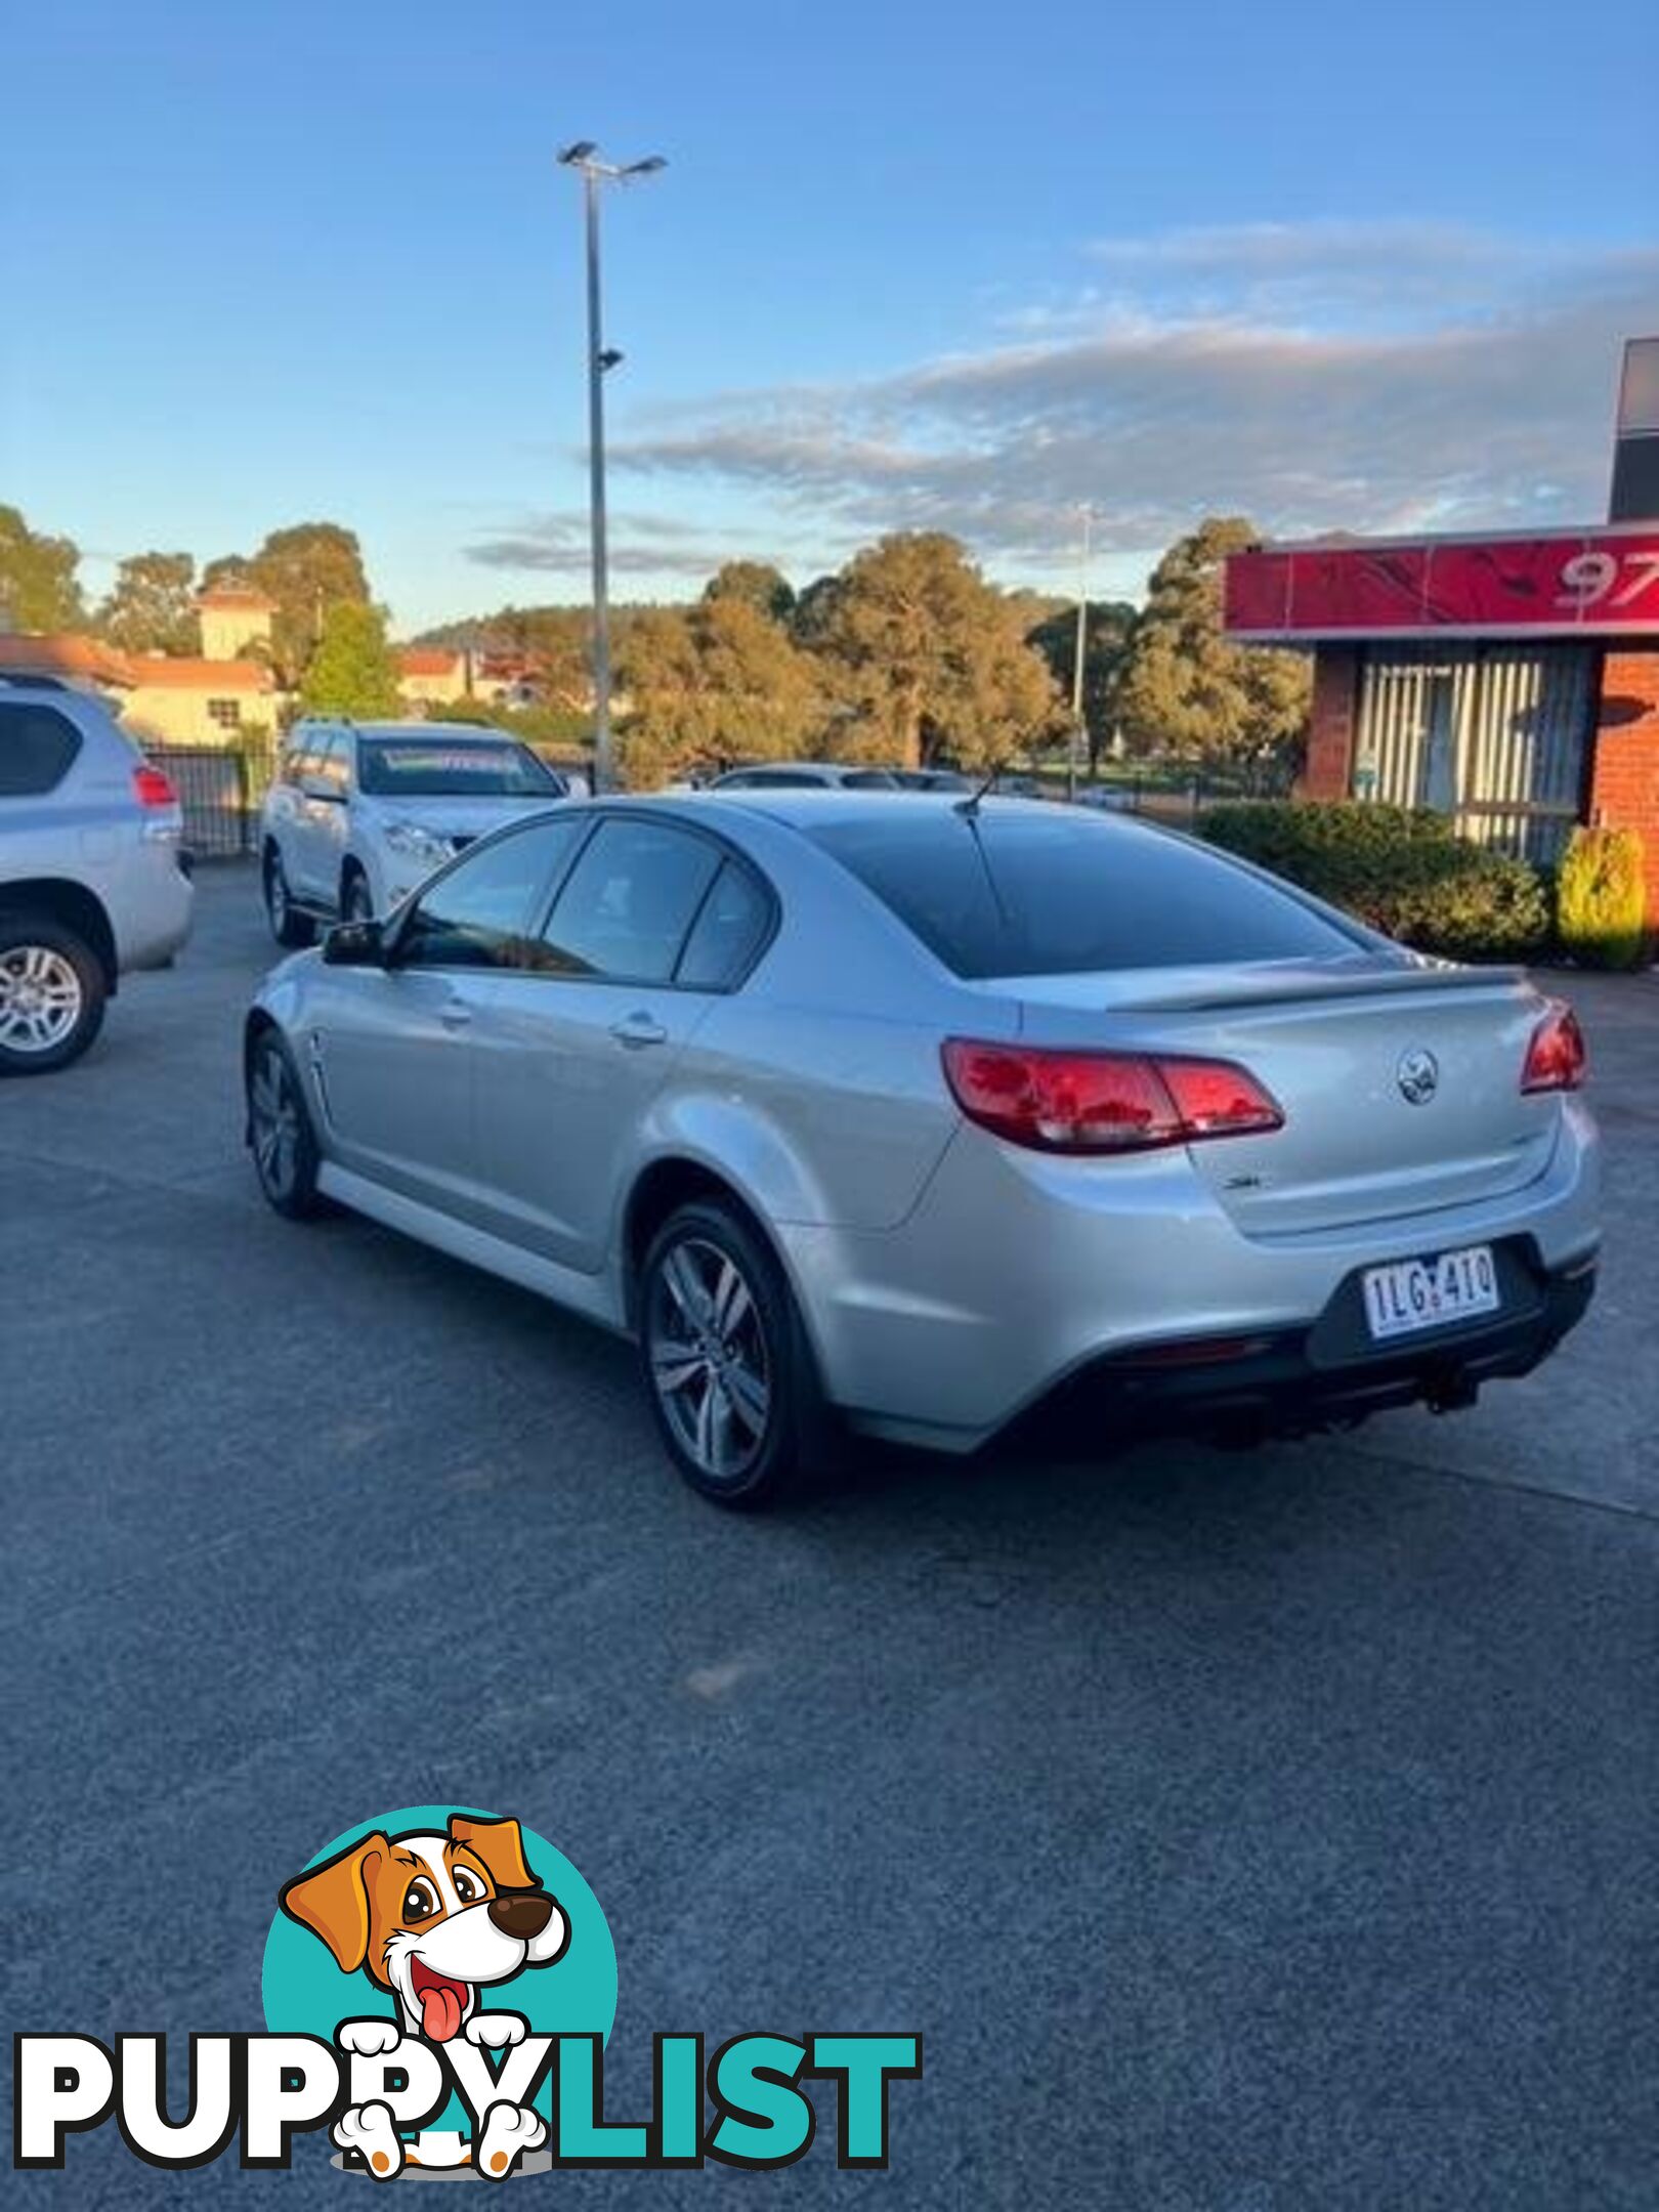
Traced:
[[1312, 646], [1301, 790], [1438, 807], [1531, 860], [1641, 832], [1659, 927], [1659, 338], [1624, 354], [1613, 520], [1234, 553], [1225, 628]]

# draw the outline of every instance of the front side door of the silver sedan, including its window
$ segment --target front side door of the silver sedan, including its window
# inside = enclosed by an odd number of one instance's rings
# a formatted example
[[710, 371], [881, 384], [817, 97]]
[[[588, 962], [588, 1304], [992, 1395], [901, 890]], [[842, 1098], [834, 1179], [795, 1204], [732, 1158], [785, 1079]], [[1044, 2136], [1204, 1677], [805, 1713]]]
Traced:
[[310, 1051], [343, 1168], [473, 1223], [487, 1212], [473, 1026], [580, 834], [546, 818], [478, 845], [427, 885], [383, 969], [323, 969]]

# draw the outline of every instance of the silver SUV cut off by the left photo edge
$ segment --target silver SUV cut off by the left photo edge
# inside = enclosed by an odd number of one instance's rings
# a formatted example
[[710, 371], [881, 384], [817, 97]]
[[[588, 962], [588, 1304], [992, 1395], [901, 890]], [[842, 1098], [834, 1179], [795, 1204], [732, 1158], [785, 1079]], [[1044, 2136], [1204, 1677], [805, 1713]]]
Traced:
[[80, 1060], [190, 933], [184, 816], [102, 699], [0, 677], [0, 1075]]

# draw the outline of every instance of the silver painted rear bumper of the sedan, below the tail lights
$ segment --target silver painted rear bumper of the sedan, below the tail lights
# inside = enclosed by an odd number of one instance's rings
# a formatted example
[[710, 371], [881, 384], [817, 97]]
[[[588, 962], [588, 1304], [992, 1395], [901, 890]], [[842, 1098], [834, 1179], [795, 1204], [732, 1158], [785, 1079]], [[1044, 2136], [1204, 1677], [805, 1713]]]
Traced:
[[[1577, 1099], [1524, 1188], [1329, 1232], [1243, 1234], [1183, 1152], [1051, 1161], [980, 1130], [953, 1137], [894, 1230], [779, 1225], [830, 1398], [863, 1429], [947, 1451], [973, 1451], [1099, 1369], [1141, 1400], [1159, 1387], [1190, 1400], [1225, 1378], [1190, 1376], [1181, 1389], [1168, 1369], [1208, 1363], [1170, 1360], [1170, 1347], [1217, 1338], [1259, 1340], [1250, 1358], [1265, 1367], [1232, 1376], [1256, 1396], [1283, 1385], [1349, 1405], [1409, 1402], [1451, 1332], [1374, 1347], [1356, 1276], [1464, 1245], [1524, 1254], [1498, 1329], [1482, 1332], [1498, 1338], [1489, 1371], [1517, 1374], [1577, 1318], [1579, 1292], [1557, 1298], [1542, 1285], [1593, 1265], [1599, 1237], [1597, 1135]], [[1148, 1365], [1164, 1371], [1146, 1376]], [[1349, 1367], [1360, 1371], [1345, 1380]]]

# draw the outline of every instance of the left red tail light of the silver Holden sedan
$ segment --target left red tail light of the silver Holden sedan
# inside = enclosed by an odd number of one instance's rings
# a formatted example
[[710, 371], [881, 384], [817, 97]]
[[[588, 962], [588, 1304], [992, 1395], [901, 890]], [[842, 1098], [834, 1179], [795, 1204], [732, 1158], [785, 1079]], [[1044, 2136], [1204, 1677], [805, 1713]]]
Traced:
[[945, 1079], [971, 1121], [1040, 1152], [1150, 1152], [1203, 1137], [1259, 1137], [1285, 1124], [1256, 1077], [1228, 1060], [951, 1037]]

